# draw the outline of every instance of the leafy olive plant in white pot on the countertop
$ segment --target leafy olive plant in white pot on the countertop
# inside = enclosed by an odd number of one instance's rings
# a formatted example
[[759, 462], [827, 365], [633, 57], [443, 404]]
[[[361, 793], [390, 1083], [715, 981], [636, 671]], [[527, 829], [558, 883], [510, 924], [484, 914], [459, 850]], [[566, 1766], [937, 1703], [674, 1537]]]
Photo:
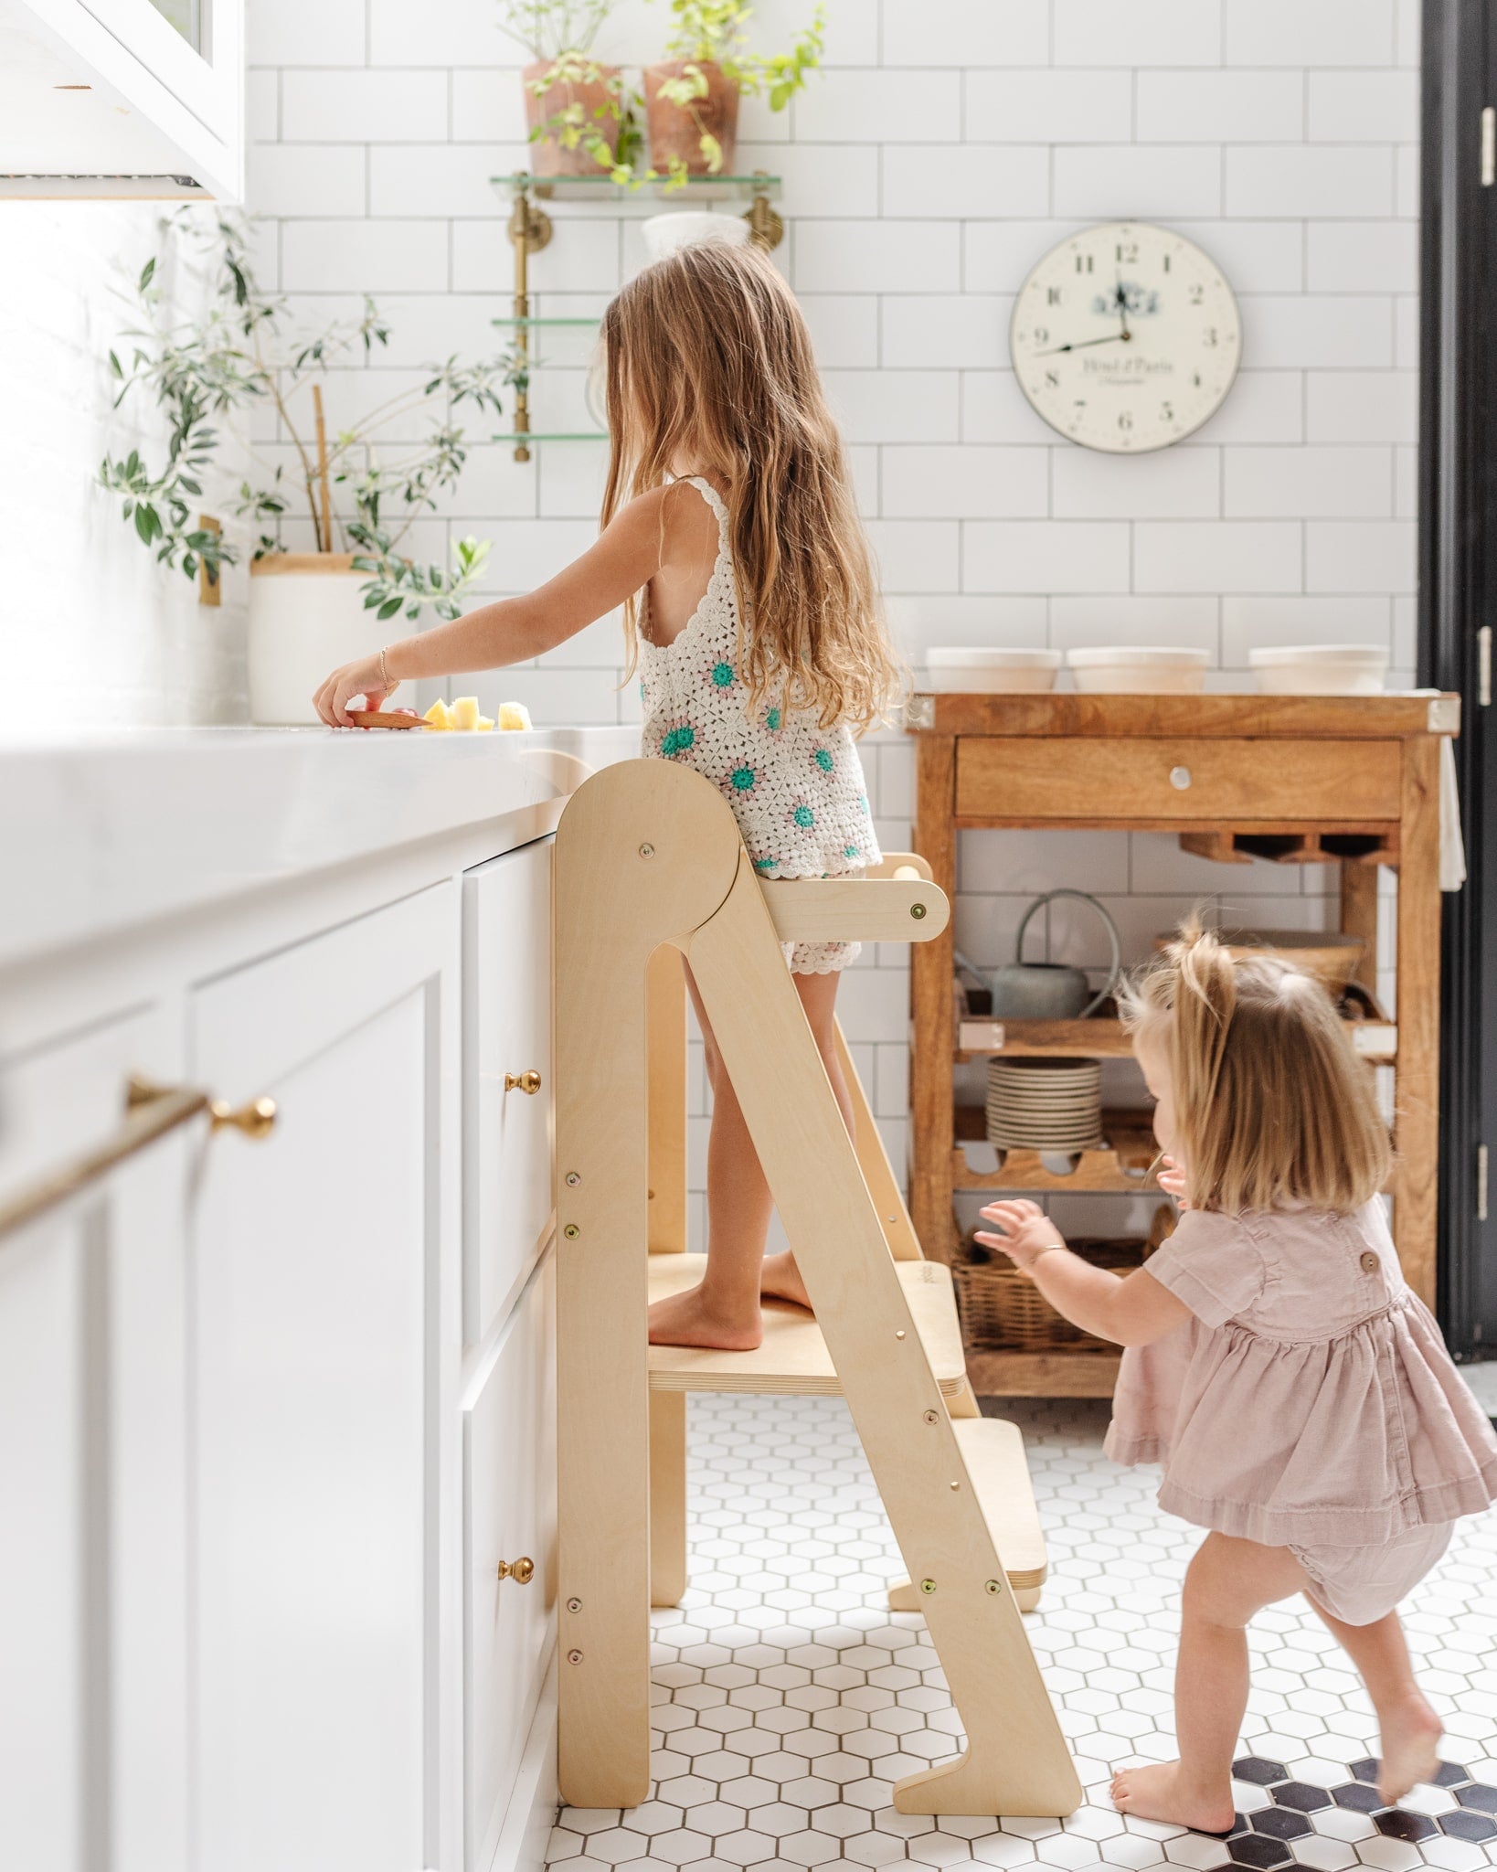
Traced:
[[[99, 479], [120, 496], [125, 520], [163, 565], [189, 578], [202, 567], [217, 580], [225, 565], [238, 563], [238, 548], [193, 520], [204, 475], [223, 446], [215, 425], [234, 412], [275, 410], [290, 442], [290, 472], [264, 447], [236, 438], [249, 472], [230, 505], [254, 532], [249, 706], [256, 723], [314, 723], [316, 685], [339, 663], [378, 650], [389, 618], [404, 610], [415, 620], [427, 607], [442, 618], [462, 610], [460, 597], [477, 578], [488, 545], [462, 539], [443, 567], [408, 558], [402, 539], [462, 474], [468, 451], [455, 414], [464, 404], [500, 414], [500, 386], [524, 365], [511, 356], [479, 363], [449, 358], [430, 365], [421, 386], [329, 436], [322, 378], [329, 367], [367, 359], [389, 343], [374, 303], [365, 300], [361, 318], [296, 335], [284, 301], [260, 290], [238, 221], [217, 219], [204, 245], [211, 264], [208, 316], [172, 324], [152, 260], [135, 283], [140, 320], [125, 333], [129, 361], [109, 354], [120, 382], [116, 408], [137, 391], [152, 395], [167, 414], [167, 461], [153, 470], [138, 449], [107, 455]], [[410, 432], [410, 419], [423, 412], [425, 436], [382, 459], [376, 436]], [[281, 526], [298, 513], [309, 522], [312, 552], [283, 547]]]

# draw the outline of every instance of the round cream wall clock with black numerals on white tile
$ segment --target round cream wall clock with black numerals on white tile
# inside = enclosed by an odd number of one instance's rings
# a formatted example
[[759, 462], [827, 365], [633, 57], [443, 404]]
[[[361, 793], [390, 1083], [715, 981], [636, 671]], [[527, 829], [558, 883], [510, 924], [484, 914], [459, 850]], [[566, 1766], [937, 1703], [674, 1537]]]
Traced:
[[1222, 270], [1194, 241], [1108, 221], [1052, 247], [1024, 281], [1009, 350], [1052, 429], [1089, 449], [1143, 455], [1222, 406], [1243, 322]]

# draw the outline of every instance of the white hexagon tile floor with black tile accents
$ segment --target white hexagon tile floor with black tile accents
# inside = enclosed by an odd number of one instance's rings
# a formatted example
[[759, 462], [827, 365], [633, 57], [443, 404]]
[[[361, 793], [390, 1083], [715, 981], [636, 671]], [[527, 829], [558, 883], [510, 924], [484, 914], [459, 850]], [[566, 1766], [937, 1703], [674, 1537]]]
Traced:
[[1347, 1660], [1291, 1601], [1252, 1629], [1254, 1690], [1237, 1831], [1123, 1820], [1115, 1765], [1175, 1754], [1179, 1580], [1198, 1529], [1155, 1505], [1156, 1470], [1102, 1456], [1108, 1406], [1022, 1402], [1050, 1541], [1025, 1619], [1087, 1803], [1068, 1820], [896, 1814], [891, 1786], [958, 1752], [960, 1722], [840, 1398], [690, 1400], [692, 1582], [655, 1623], [655, 1784], [619, 1814], [563, 1808], [561, 1872], [810, 1872], [956, 1866], [1315, 1866], [1467, 1872], [1497, 1865], [1497, 1516], [1460, 1524], [1407, 1604], [1450, 1763], [1383, 1810], [1377, 1730]]

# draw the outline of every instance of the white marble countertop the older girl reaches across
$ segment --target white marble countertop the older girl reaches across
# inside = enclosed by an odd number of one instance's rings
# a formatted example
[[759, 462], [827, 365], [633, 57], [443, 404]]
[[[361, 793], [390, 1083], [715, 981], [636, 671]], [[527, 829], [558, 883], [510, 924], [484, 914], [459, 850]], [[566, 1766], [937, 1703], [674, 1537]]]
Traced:
[[[638, 728], [378, 734], [135, 728], [0, 747], [0, 966], [112, 929], [490, 824], [550, 829], [578, 769]], [[554, 805], [552, 814], [537, 809]], [[505, 827], [505, 820], [511, 822]]]

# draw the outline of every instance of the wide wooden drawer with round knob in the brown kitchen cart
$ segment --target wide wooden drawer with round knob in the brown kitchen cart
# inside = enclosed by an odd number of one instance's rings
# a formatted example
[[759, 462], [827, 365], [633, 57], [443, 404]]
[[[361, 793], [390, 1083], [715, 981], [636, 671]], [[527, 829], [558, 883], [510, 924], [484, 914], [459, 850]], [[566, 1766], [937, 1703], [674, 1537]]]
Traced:
[[1398, 741], [988, 739], [956, 745], [956, 816], [1392, 820]]

